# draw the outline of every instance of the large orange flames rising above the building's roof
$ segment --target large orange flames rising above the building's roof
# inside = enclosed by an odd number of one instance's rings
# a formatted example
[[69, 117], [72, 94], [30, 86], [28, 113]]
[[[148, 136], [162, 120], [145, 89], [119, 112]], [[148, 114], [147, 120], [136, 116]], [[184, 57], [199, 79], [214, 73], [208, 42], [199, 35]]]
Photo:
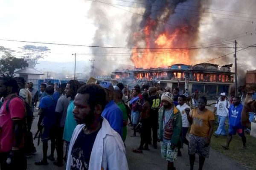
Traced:
[[[155, 35], [151, 29], [155, 25], [152, 20], [147, 20], [143, 30], [145, 35], [145, 48], [180, 48], [187, 47], [186, 27], [176, 28], [172, 32], [163, 31]], [[134, 34], [136, 38], [137, 34]], [[137, 68], [166, 68], [169, 65], [183, 63], [190, 64], [189, 50], [187, 49], [139, 49], [140, 42], [133, 48], [132, 61]]]

